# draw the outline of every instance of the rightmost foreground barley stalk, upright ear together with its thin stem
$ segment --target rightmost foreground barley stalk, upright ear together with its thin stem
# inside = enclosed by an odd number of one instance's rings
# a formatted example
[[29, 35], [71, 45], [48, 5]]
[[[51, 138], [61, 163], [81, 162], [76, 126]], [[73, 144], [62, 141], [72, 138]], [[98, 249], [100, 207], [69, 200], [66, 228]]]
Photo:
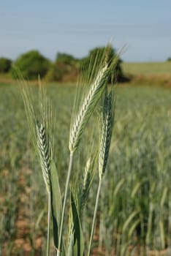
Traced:
[[113, 130], [114, 121], [114, 94], [113, 89], [110, 93], [107, 93], [107, 89], [104, 91], [104, 99], [102, 100], [102, 108], [99, 118], [99, 185], [96, 194], [96, 203], [94, 208], [94, 218], [91, 228], [91, 237], [88, 246], [88, 256], [91, 255], [91, 245], [94, 236], [94, 227], [96, 221], [96, 212], [99, 203], [99, 195], [102, 187], [102, 178], [107, 165], [107, 158], [110, 150], [110, 141]]

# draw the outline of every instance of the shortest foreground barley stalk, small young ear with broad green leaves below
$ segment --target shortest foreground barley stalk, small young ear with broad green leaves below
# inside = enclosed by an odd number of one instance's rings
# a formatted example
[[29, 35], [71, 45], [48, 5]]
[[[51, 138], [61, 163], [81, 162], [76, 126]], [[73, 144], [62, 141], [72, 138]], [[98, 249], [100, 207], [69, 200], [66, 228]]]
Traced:
[[[85, 163], [85, 167], [82, 169], [83, 159], [78, 159], [77, 170], [75, 170], [74, 177], [72, 178], [72, 183], [70, 187], [71, 200], [69, 208], [69, 222], [68, 222], [68, 239], [67, 239], [67, 256], [72, 255], [74, 250], [75, 255], [83, 256], [84, 252], [84, 240], [83, 227], [81, 225], [81, 220], [84, 219], [85, 211], [84, 206], [88, 200], [88, 192], [91, 188], [92, 181], [94, 179], [94, 173], [97, 164], [97, 148], [92, 141], [94, 141], [94, 129], [88, 132], [90, 138], [88, 143], [88, 159]], [[83, 142], [82, 146], [86, 143]], [[84, 147], [85, 148], [85, 147]], [[80, 165], [81, 163], [81, 165]], [[83, 224], [83, 223], [82, 223]], [[85, 228], [84, 228], [85, 230]]]

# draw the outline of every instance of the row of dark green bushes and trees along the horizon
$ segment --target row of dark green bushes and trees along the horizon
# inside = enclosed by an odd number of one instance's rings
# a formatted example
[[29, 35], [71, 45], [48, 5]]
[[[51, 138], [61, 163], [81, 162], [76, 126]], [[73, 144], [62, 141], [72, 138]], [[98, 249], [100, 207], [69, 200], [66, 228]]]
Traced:
[[[115, 49], [109, 45], [108, 61], [116, 56]], [[47, 81], [67, 82], [77, 80], [77, 74], [83, 66], [90, 64], [98, 53], [99, 58], [104, 53], [104, 47], [90, 50], [88, 56], [77, 59], [67, 53], [57, 53], [55, 61], [45, 58], [38, 50], [30, 50], [21, 54], [15, 61], [0, 58], [0, 73], [9, 73], [16, 78], [16, 69], [20, 70], [24, 79], [37, 80], [38, 75]], [[118, 81], [126, 80], [121, 69], [121, 59], [117, 60], [116, 75]]]

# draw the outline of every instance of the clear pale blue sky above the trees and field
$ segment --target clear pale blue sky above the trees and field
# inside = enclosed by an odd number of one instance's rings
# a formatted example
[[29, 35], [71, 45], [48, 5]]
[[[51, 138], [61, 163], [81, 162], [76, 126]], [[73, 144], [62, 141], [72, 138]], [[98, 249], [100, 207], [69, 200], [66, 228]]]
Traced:
[[0, 0], [0, 57], [28, 50], [82, 58], [113, 44], [123, 61], [171, 57], [170, 0]]

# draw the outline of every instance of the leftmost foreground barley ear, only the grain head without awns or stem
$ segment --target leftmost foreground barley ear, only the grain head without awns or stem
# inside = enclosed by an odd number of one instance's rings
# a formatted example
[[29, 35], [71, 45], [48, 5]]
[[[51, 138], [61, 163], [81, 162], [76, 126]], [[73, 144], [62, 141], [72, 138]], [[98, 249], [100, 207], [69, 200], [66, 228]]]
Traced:
[[42, 176], [45, 181], [47, 193], [50, 193], [50, 148], [47, 142], [47, 136], [45, 133], [45, 127], [42, 123], [36, 124], [37, 133], [37, 148], [39, 152], [40, 164], [42, 167]]

